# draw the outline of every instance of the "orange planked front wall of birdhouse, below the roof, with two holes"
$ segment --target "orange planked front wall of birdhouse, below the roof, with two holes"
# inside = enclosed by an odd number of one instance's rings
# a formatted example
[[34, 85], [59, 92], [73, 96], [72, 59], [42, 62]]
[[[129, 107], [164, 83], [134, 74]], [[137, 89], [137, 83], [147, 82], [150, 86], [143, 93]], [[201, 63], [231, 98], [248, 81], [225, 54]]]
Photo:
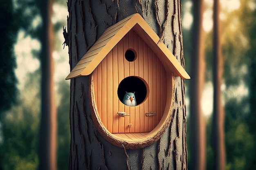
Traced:
[[[150, 132], [161, 120], [168, 95], [166, 70], [135, 31], [100, 62], [92, 80], [97, 112], [109, 132]], [[126, 97], [136, 106], [124, 104]]]

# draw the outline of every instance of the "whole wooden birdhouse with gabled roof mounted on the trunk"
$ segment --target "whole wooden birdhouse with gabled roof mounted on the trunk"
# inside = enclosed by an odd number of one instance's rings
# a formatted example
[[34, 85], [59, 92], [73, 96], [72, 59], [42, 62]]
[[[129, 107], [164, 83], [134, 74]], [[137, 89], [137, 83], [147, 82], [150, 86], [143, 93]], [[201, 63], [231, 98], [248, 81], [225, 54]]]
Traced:
[[101, 35], [66, 79], [90, 76], [92, 120], [112, 144], [143, 148], [171, 121], [174, 77], [190, 79], [138, 13]]

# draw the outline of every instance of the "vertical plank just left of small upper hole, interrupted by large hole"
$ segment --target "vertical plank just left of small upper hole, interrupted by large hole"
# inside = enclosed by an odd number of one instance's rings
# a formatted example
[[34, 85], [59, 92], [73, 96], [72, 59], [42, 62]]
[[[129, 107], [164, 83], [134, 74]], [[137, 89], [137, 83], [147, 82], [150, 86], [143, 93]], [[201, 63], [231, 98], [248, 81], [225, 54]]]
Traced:
[[[118, 54], [118, 82], [120, 83], [124, 79], [124, 47], [123, 40], [117, 44]], [[122, 99], [121, 99], [122, 100]], [[124, 104], [119, 100], [119, 112], [124, 112]], [[124, 133], [124, 117], [118, 117], [118, 132]]]

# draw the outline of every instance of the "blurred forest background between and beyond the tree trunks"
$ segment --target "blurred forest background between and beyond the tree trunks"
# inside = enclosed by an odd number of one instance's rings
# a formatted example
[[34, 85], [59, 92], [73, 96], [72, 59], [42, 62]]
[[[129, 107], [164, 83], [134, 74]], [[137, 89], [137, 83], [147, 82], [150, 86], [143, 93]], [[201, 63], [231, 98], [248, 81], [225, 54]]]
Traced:
[[[39, 166], [41, 82], [43, 65], [41, 35], [43, 20], [40, 0], [0, 0], [0, 170], [36, 170]], [[183, 0], [183, 45], [186, 71], [195, 65], [192, 53], [194, 1]], [[58, 170], [67, 170], [70, 148], [68, 49], [63, 49], [63, 26], [67, 26], [67, 2], [54, 0], [53, 24], [54, 94], [57, 112]], [[202, 1], [202, 50], [205, 69], [202, 92], [198, 96], [204, 124], [205, 167], [213, 170], [213, 0]], [[220, 33], [223, 75], [220, 86], [225, 113], [226, 170], [256, 169], [256, 2], [220, 0]], [[200, 69], [199, 69], [200, 71]], [[200, 75], [201, 75], [200, 73]], [[190, 111], [191, 80], [186, 80], [187, 141], [189, 169], [194, 169], [191, 150], [194, 140]], [[193, 133], [192, 133], [193, 132]]]

